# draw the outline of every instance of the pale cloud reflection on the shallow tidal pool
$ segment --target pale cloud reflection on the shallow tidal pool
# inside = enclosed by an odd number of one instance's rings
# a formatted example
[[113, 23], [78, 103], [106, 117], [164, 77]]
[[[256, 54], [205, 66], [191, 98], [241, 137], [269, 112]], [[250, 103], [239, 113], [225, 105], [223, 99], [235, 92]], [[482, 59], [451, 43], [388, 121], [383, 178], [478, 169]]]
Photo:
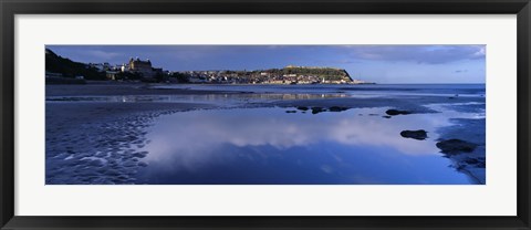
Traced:
[[[147, 161], [197, 168], [202, 164], [230, 160], [219, 153], [227, 146], [254, 147], [253, 154], [267, 158], [259, 147], [280, 150], [312, 145], [391, 147], [406, 155], [437, 154], [434, 130], [449, 125], [447, 113], [412, 114], [383, 118], [385, 108], [353, 108], [341, 113], [287, 114], [282, 108], [239, 108], [194, 111], [163, 116], [152, 127], [145, 147]], [[362, 115], [360, 115], [362, 114]], [[368, 116], [368, 114], [379, 114]], [[458, 113], [451, 113], [455, 118]], [[404, 129], [425, 129], [429, 138], [403, 138]], [[232, 156], [233, 157], [233, 156]], [[322, 168], [324, 171], [327, 167]]]

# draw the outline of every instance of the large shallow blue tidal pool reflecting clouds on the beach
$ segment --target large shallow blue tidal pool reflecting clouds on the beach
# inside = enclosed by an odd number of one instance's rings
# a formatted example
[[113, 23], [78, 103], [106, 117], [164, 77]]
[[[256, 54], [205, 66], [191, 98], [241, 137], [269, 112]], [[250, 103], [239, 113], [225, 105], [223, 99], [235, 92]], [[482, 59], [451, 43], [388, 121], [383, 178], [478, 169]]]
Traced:
[[[459, 185], [473, 184], [436, 147], [441, 113], [383, 117], [386, 107], [323, 112], [228, 108], [160, 116], [147, 129], [147, 164], [137, 184], [149, 185]], [[483, 111], [485, 112], [485, 111]], [[424, 129], [428, 138], [404, 138]]]

